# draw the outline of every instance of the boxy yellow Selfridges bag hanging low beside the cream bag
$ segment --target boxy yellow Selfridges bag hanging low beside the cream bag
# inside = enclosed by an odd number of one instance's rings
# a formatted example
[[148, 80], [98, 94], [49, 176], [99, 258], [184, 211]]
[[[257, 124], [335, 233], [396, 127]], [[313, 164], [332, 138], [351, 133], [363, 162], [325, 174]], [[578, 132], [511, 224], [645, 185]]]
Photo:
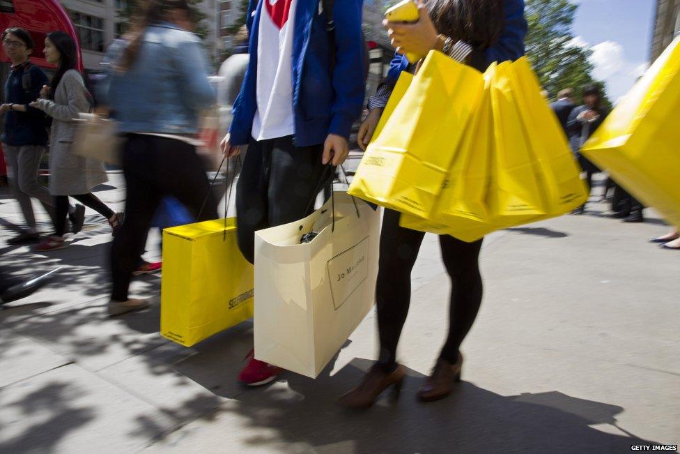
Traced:
[[163, 231], [161, 334], [191, 347], [253, 316], [254, 270], [235, 218]]

